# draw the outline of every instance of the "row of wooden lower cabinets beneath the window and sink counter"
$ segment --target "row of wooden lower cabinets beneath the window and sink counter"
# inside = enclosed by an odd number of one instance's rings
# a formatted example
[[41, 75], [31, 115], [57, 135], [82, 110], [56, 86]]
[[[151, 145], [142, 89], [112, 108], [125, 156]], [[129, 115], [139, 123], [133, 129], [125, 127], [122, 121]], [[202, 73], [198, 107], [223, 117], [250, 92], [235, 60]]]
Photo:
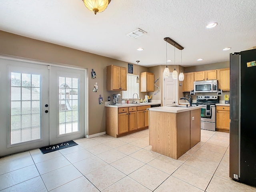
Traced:
[[[140, 111], [137, 111], [137, 108]], [[148, 110], [146, 108], [150, 108], [150, 105], [106, 107], [106, 134], [118, 137], [147, 128]]]

